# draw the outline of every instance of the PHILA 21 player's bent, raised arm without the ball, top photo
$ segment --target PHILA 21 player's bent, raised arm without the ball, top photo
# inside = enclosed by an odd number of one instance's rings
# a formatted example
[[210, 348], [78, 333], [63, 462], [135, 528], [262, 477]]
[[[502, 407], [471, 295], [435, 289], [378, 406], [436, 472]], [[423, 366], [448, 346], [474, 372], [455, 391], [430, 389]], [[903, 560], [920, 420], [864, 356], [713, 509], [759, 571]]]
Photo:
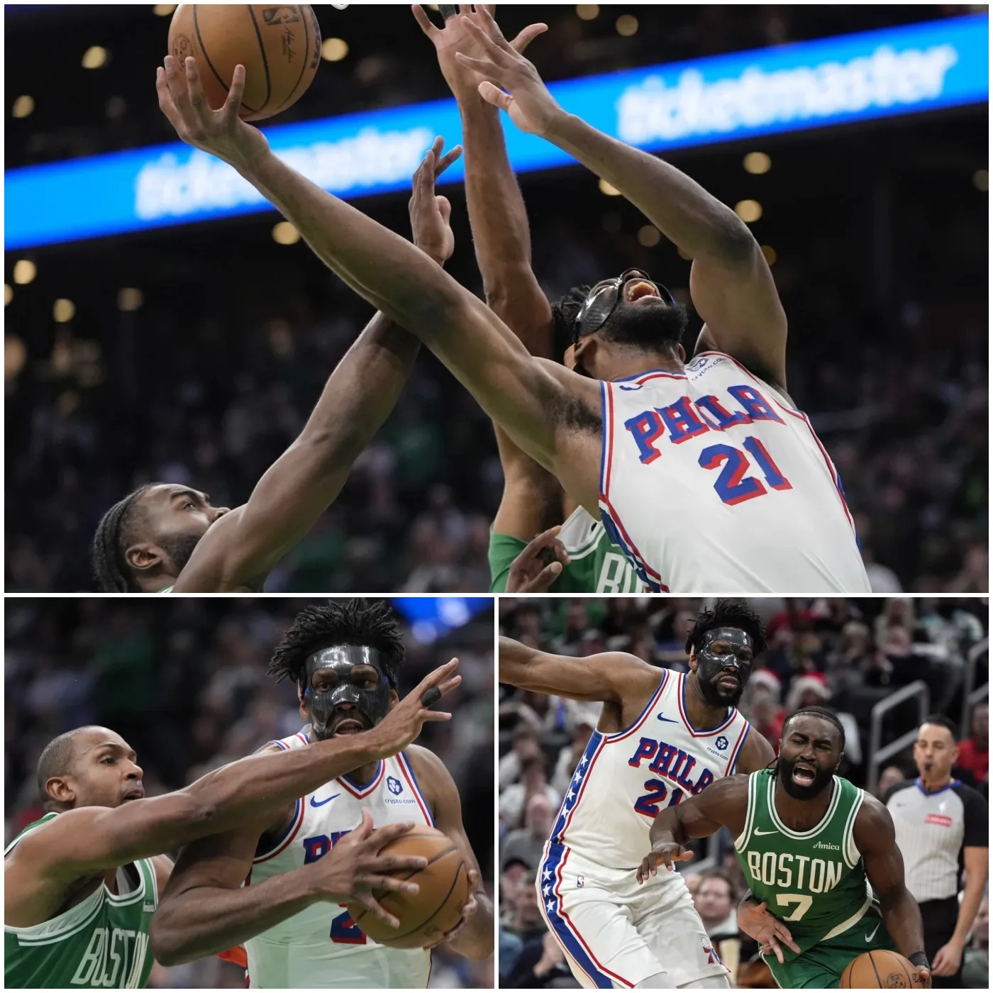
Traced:
[[714, 343], [785, 388], [786, 318], [745, 223], [678, 169], [567, 114], [534, 66], [497, 37], [487, 10], [460, 16], [486, 52], [480, 59], [459, 57], [488, 80], [481, 94], [521, 130], [546, 138], [620, 190], [689, 255], [690, 294]]

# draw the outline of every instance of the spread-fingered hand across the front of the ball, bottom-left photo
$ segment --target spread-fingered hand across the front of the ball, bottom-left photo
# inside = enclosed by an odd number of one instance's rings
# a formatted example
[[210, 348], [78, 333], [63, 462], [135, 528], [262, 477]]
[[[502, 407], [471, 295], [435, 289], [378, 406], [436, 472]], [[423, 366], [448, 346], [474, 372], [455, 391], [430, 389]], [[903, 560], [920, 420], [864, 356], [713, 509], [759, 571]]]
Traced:
[[400, 922], [380, 906], [372, 891], [415, 894], [420, 890], [416, 883], [389, 874], [423, 869], [428, 864], [426, 858], [420, 855], [380, 854], [386, 845], [402, 837], [413, 826], [411, 821], [373, 830], [372, 814], [363, 809], [358, 827], [311, 867], [315, 886], [322, 894], [321, 899], [333, 904], [361, 904], [373, 917], [390, 927], [399, 927]]

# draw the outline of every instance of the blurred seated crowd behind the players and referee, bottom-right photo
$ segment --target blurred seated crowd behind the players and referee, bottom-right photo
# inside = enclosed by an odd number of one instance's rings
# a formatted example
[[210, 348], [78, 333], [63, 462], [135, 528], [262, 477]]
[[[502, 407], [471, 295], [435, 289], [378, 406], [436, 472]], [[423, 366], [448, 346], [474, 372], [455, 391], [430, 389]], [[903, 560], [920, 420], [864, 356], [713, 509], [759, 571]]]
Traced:
[[[687, 671], [686, 637], [700, 599], [590, 598], [499, 601], [500, 633], [556, 654], [582, 657], [627, 651], [652, 665]], [[778, 748], [782, 722], [798, 707], [822, 706], [845, 728], [840, 770], [866, 786], [872, 707], [900, 686], [922, 679], [928, 712], [944, 713], [958, 726], [966, 672], [972, 686], [988, 682], [989, 605], [983, 599], [778, 600], [753, 599], [769, 648], [760, 656], [740, 709]], [[558, 944], [540, 916], [533, 886], [554, 816], [568, 788], [600, 704], [499, 687], [499, 912], [500, 981], [505, 987], [574, 987]], [[953, 775], [988, 800], [989, 706], [983, 700], [959, 727]], [[917, 708], [899, 706], [884, 721], [885, 747], [916, 726]], [[908, 748], [884, 764], [877, 796], [917, 775]], [[693, 842], [698, 858], [680, 871], [722, 960], [737, 967], [739, 987], [773, 987], [758, 948], [738, 932], [736, 908], [746, 887], [727, 832]], [[988, 904], [976, 920], [966, 952], [966, 980], [986, 988]], [[971, 977], [971, 978], [970, 978]]]

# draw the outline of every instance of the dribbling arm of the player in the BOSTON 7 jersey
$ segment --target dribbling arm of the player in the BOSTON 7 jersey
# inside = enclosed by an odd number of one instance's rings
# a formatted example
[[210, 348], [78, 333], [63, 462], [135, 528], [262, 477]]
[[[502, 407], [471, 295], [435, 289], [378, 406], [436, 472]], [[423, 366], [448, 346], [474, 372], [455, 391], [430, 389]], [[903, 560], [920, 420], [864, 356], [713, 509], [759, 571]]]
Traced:
[[879, 897], [879, 909], [890, 937], [897, 950], [921, 968], [922, 978], [930, 986], [921, 908], [904, 882], [904, 856], [897, 847], [893, 818], [890, 811], [869, 793], [864, 794], [852, 836], [865, 864], [869, 884]]

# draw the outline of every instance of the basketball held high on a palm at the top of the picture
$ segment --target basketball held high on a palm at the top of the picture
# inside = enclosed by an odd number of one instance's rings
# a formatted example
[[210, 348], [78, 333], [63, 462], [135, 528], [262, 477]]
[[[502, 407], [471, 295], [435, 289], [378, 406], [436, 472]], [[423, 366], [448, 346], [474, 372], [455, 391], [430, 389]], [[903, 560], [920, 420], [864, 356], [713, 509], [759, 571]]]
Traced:
[[321, 29], [307, 5], [180, 4], [169, 27], [169, 52], [190, 56], [213, 110], [227, 98], [234, 67], [245, 68], [241, 117], [264, 120], [293, 106], [314, 81]]

